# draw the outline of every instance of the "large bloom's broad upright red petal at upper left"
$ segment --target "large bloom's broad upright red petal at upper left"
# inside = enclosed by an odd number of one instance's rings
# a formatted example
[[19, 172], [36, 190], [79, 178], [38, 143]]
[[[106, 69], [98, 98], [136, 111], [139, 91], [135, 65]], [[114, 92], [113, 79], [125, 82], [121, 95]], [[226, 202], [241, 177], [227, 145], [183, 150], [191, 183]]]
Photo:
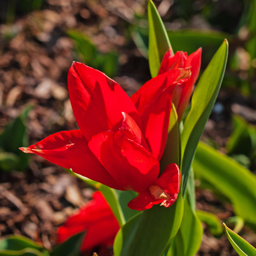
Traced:
[[68, 89], [76, 121], [87, 141], [102, 131], [118, 131], [122, 111], [140, 127], [137, 110], [128, 95], [102, 72], [74, 62], [68, 72]]

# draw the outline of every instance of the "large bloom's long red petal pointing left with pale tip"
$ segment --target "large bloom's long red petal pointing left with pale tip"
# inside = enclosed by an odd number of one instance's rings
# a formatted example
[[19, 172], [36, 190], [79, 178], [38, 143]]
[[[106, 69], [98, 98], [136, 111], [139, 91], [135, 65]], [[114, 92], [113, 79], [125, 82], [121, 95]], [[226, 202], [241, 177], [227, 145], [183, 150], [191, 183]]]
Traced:
[[57, 132], [35, 145], [20, 150], [37, 154], [64, 168], [72, 168], [73, 172], [109, 187], [122, 189], [91, 153], [80, 130]]

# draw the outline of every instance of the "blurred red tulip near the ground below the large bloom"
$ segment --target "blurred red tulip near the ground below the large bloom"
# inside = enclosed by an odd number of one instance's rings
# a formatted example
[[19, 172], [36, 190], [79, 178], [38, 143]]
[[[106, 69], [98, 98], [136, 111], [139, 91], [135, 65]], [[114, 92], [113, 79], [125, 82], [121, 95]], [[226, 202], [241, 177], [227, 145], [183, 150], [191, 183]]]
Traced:
[[65, 224], [57, 230], [58, 242], [84, 230], [86, 234], [82, 242], [81, 251], [93, 249], [95, 246], [112, 245], [119, 229], [108, 203], [101, 192], [93, 193], [93, 200], [80, 208], [77, 214], [67, 219]]

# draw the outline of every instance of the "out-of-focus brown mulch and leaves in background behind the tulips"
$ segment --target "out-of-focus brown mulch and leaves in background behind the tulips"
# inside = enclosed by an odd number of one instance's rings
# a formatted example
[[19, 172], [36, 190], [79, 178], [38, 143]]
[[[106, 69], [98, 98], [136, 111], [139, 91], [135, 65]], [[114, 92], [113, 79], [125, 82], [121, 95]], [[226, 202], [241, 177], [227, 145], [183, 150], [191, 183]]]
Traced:
[[[202, 140], [256, 173], [256, 1], [154, 3], [174, 52], [202, 46], [201, 72], [228, 39], [225, 77]], [[72, 61], [99, 69], [131, 96], [151, 78], [147, 48], [146, 0], [1, 0], [0, 236], [22, 234], [50, 249], [57, 227], [91, 199], [93, 188], [18, 150], [77, 128], [67, 90]], [[197, 209], [221, 220], [234, 215], [225, 198], [196, 185]], [[236, 255], [226, 237], [204, 229], [198, 255]], [[256, 246], [251, 229], [240, 234]]]

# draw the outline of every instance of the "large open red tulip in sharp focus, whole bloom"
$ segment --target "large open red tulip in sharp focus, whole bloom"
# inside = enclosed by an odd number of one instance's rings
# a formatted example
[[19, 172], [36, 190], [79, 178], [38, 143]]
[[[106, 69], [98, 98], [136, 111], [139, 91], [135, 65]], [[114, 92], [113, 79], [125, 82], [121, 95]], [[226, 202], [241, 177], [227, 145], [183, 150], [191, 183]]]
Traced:
[[[169, 207], [180, 189], [180, 170], [170, 164], [159, 176], [172, 92], [190, 68], [173, 69], [146, 82], [131, 98], [102, 72], [74, 62], [69, 97], [79, 130], [61, 131], [28, 148], [67, 169], [111, 188], [133, 190], [133, 210]], [[159, 177], [158, 177], [159, 176]]]

